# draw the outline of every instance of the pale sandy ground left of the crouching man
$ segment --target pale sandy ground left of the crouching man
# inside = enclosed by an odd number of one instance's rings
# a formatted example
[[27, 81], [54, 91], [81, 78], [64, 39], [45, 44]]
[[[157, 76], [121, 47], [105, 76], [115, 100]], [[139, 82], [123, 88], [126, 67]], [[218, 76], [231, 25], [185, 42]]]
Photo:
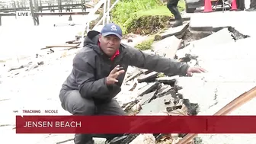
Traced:
[[[144, 40], [146, 37], [138, 37], [131, 46]], [[72, 39], [73, 40], [73, 39]], [[62, 41], [63, 42], [63, 41]], [[125, 40], [124, 40], [125, 42]], [[58, 49], [58, 48], [56, 48]], [[72, 70], [72, 59], [78, 50], [56, 50], [55, 53], [46, 53], [49, 50], [41, 50], [42, 56], [35, 58], [35, 54], [29, 59], [12, 60], [3, 62], [1, 67], [2, 77], [0, 78], [0, 113], [5, 117], [0, 119], [0, 134], [4, 137], [13, 137], [14, 142], [22, 143], [56, 143], [66, 139], [72, 139], [73, 135], [37, 134], [35, 136], [26, 134], [15, 134], [12, 130], [15, 123], [14, 110], [58, 110], [58, 115], [69, 115], [62, 110], [59, 102], [59, 90], [62, 82]], [[30, 69], [35, 62], [42, 62], [43, 65], [36, 69]], [[18, 69], [8, 72], [12, 66], [26, 65], [33, 62], [27, 69]], [[3, 66], [5, 65], [5, 66]], [[8, 107], [8, 108], [7, 108]], [[33, 137], [33, 138], [31, 138]], [[30, 139], [27, 142], [27, 139]], [[96, 139], [97, 143], [104, 143], [104, 139]], [[8, 142], [8, 139], [1, 139], [1, 143]], [[64, 142], [72, 143], [72, 141]]]

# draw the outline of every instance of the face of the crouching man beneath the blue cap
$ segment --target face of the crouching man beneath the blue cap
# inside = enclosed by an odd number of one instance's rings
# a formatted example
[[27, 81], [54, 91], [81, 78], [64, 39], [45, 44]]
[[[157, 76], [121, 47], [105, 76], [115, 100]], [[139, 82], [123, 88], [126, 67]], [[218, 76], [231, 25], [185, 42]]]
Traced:
[[121, 43], [120, 38], [115, 35], [101, 36], [99, 41], [101, 43], [101, 50], [103, 50], [107, 56], [113, 56], [119, 49]]

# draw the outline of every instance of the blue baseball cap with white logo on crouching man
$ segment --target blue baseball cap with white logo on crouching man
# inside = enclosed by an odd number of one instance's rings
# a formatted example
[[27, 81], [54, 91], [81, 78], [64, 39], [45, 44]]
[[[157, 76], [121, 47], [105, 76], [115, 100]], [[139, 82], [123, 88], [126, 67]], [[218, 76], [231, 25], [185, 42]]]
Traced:
[[120, 39], [122, 39], [122, 29], [121, 27], [119, 27], [117, 24], [106, 24], [102, 30], [101, 30], [101, 35], [102, 36], [108, 36], [108, 35], [115, 35], [117, 37], [119, 37]]

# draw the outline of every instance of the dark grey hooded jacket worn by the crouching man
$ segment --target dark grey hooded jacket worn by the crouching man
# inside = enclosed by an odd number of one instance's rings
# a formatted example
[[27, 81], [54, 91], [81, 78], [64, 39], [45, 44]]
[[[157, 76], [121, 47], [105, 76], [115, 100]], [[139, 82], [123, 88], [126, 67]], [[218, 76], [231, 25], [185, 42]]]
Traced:
[[189, 66], [174, 59], [143, 53], [123, 43], [120, 55], [110, 60], [98, 46], [99, 33], [94, 31], [85, 37], [84, 47], [73, 59], [73, 69], [62, 85], [62, 90], [78, 90], [83, 98], [105, 101], [114, 98], [121, 90], [125, 74], [120, 75], [115, 85], [107, 86], [105, 80], [115, 66], [126, 71], [128, 66], [149, 69], [165, 74], [186, 75]]

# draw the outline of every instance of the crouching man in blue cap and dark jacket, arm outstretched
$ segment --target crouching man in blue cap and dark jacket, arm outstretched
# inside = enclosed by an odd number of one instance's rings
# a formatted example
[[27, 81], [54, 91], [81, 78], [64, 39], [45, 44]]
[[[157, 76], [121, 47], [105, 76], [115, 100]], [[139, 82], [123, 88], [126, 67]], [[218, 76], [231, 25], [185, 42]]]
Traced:
[[[128, 66], [165, 74], [191, 75], [204, 72], [174, 59], [149, 55], [121, 43], [122, 30], [117, 24], [106, 24], [101, 33], [88, 32], [84, 47], [73, 59], [73, 69], [63, 83], [59, 98], [64, 110], [73, 115], [125, 115], [113, 98], [121, 91]], [[75, 144], [94, 143], [93, 137], [107, 141], [119, 134], [75, 134]]]

